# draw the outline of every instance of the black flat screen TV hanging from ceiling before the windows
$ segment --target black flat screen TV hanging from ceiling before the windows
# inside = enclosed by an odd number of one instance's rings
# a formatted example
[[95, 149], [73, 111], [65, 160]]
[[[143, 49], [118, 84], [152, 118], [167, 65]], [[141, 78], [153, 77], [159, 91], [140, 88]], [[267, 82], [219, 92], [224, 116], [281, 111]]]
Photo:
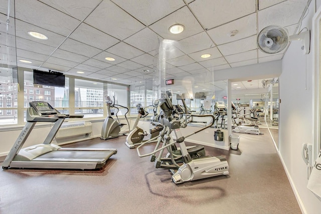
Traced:
[[39, 71], [34, 69], [34, 84], [65, 87], [65, 75], [60, 72], [51, 71]]

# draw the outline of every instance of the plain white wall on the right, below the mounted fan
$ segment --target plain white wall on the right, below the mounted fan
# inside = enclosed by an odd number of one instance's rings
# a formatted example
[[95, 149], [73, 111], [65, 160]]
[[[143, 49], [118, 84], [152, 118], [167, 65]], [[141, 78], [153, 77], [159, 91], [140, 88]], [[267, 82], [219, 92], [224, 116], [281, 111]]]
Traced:
[[[311, 29], [315, 13], [312, 1], [301, 29]], [[313, 34], [313, 32], [311, 32]], [[313, 44], [311, 43], [311, 50]], [[320, 213], [319, 201], [307, 188], [307, 169], [301, 157], [302, 143], [312, 143], [312, 54], [304, 55], [301, 43], [294, 41], [282, 60], [279, 77], [279, 154], [284, 167], [297, 191], [301, 209], [306, 213]]]

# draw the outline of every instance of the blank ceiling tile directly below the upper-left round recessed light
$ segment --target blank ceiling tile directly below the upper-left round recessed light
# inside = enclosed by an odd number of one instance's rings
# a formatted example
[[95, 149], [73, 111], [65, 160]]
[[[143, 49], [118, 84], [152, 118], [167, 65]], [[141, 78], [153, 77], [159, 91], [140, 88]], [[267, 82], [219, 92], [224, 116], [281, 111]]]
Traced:
[[39, 54], [50, 55], [55, 50], [55, 48], [52, 46], [43, 45], [41, 43], [22, 39], [19, 37], [16, 38], [16, 42], [17, 42], [17, 48], [39, 53]]

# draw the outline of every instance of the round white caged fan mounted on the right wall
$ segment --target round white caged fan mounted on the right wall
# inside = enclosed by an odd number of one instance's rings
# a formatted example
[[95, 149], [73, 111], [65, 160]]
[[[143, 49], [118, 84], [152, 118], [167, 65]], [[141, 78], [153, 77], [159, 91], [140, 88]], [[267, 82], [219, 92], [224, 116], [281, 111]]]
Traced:
[[261, 51], [268, 54], [275, 54], [283, 51], [289, 41], [302, 41], [302, 50], [304, 54], [310, 52], [310, 31], [304, 31], [299, 34], [289, 36], [286, 29], [271, 25], [262, 29], [257, 37], [257, 44]]

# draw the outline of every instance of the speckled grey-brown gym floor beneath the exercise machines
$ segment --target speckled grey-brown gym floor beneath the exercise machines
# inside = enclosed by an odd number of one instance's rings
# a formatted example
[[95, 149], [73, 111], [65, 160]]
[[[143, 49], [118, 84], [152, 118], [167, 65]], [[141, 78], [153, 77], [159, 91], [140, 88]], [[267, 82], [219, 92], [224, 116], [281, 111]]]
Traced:
[[69, 144], [118, 152], [95, 171], [0, 170], [0, 213], [301, 213], [268, 130], [261, 131], [239, 134], [238, 150], [205, 147], [226, 157], [229, 175], [182, 184], [128, 149], [125, 136]]

